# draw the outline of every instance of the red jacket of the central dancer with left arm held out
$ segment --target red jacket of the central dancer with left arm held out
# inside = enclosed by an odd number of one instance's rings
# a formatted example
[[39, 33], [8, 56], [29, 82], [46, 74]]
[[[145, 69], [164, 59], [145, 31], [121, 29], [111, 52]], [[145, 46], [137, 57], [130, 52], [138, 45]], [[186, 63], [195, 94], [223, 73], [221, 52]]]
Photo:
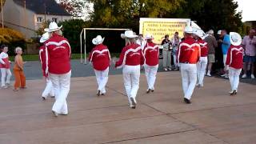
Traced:
[[142, 48], [136, 43], [127, 45], [122, 49], [119, 61], [115, 63], [115, 67], [121, 68], [122, 66], [138, 66], [144, 65], [144, 56]]

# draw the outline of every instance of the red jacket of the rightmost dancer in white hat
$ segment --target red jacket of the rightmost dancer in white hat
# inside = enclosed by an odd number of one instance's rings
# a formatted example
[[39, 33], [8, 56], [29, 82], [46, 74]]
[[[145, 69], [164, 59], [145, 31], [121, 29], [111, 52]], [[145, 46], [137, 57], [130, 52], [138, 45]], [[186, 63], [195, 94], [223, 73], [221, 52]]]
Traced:
[[242, 69], [242, 46], [231, 45], [226, 55], [226, 65], [234, 69]]

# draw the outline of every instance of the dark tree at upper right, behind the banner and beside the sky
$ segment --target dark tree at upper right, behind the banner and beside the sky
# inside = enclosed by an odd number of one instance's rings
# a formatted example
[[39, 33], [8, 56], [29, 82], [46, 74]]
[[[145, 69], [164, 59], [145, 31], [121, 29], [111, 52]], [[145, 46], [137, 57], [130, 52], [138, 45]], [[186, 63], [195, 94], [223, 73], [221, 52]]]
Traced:
[[191, 18], [203, 30], [238, 31], [242, 26], [242, 12], [237, 12], [234, 0], [186, 0], [179, 10], [170, 15]]

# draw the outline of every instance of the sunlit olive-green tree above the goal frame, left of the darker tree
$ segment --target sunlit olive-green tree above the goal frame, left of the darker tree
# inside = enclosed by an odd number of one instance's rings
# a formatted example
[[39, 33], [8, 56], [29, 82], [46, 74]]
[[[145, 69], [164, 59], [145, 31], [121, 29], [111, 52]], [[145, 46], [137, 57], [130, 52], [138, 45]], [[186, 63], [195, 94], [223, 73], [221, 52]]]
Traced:
[[164, 18], [177, 10], [184, 0], [90, 0], [94, 11], [90, 19], [94, 26], [126, 27], [138, 31], [139, 18]]

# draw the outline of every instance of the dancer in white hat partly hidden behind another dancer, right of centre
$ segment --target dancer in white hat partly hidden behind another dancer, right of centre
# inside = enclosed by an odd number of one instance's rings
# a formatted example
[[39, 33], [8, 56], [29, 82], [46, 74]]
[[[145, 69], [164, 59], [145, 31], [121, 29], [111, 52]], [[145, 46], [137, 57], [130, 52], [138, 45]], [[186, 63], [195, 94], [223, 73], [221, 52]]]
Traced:
[[205, 33], [202, 30], [194, 30], [194, 39], [200, 45], [201, 56], [199, 58], [199, 62], [197, 63], [197, 71], [198, 71], [198, 83], [196, 86], [203, 86], [203, 78], [206, 74], [206, 66], [207, 66], [207, 56], [208, 56], [208, 46], [207, 42], [203, 41], [202, 38]]

